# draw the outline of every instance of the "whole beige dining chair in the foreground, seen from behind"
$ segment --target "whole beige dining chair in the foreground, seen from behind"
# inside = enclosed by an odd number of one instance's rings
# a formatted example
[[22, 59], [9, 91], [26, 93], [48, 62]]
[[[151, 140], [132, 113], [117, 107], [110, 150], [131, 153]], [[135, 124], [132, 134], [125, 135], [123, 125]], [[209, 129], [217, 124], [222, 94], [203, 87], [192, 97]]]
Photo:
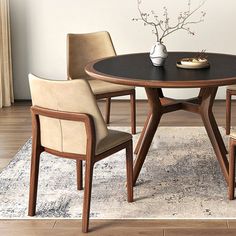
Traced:
[[[86, 233], [89, 227], [94, 165], [122, 149], [126, 149], [127, 200], [133, 201], [132, 135], [107, 129], [86, 80], [52, 81], [30, 74], [29, 84], [33, 105], [31, 107], [32, 159], [28, 215], [34, 216], [36, 212], [42, 152], [76, 160], [78, 190], [83, 188], [82, 162], [84, 161], [82, 231]], [[105, 204], [104, 202], [104, 207]]]

